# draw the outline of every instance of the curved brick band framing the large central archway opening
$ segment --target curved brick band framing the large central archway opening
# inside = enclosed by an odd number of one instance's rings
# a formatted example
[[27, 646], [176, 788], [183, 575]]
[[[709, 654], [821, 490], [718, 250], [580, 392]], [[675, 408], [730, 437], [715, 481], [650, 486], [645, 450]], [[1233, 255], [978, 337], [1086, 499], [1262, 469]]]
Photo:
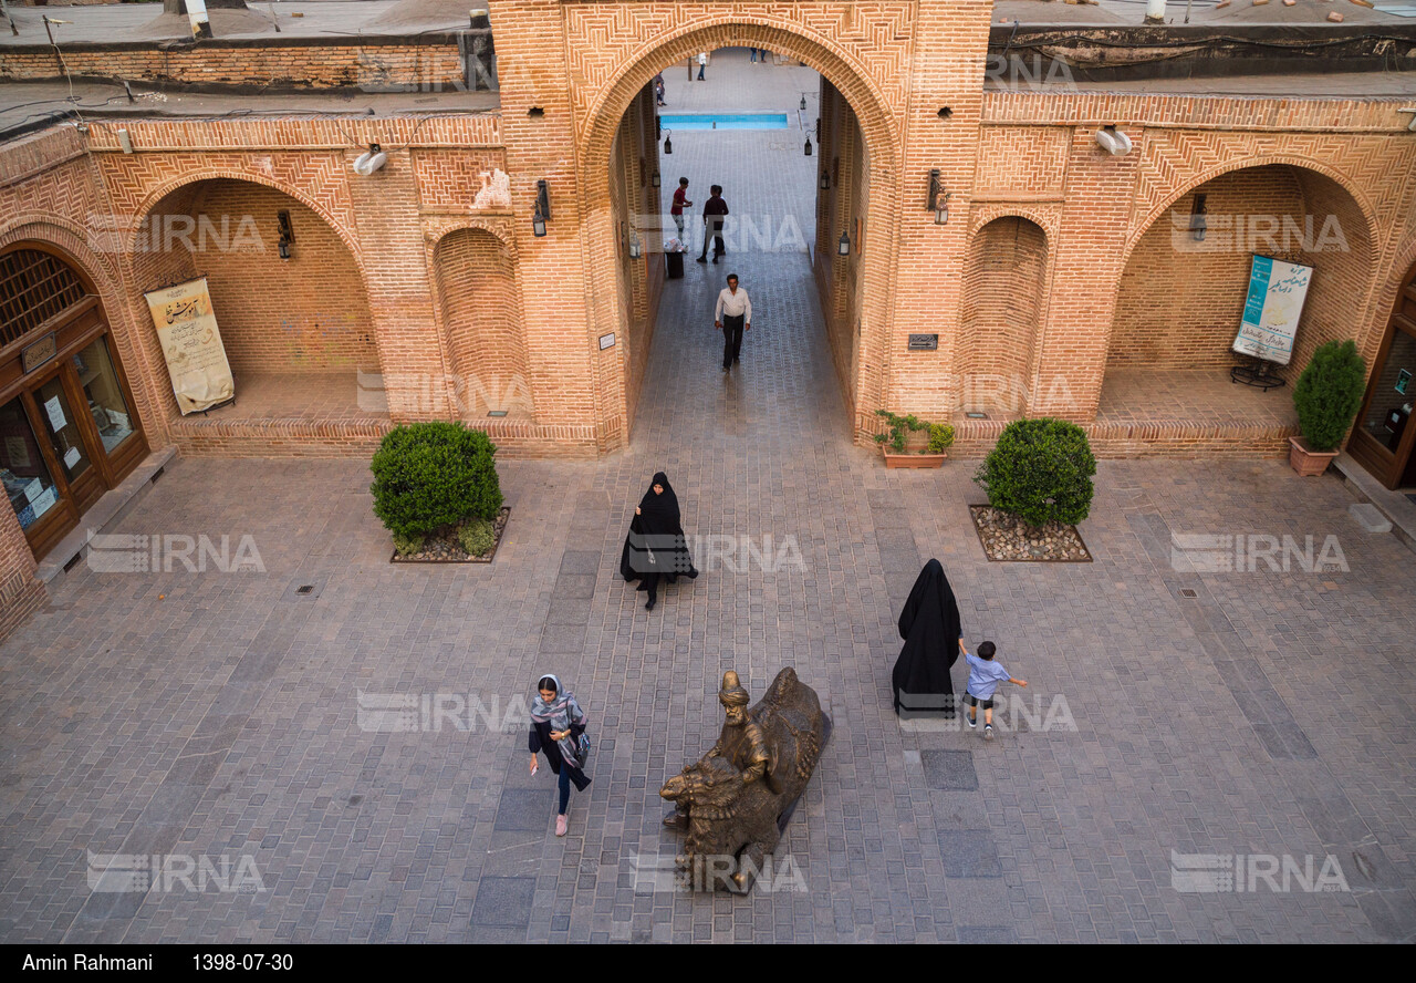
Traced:
[[[578, 140], [578, 170], [585, 204], [583, 256], [586, 280], [617, 282], [619, 276], [613, 256], [615, 215], [610, 205], [610, 159], [615, 135], [620, 120], [629, 110], [636, 95], [644, 89], [664, 67], [688, 58], [698, 51], [712, 51], [729, 47], [759, 47], [787, 54], [814, 68], [850, 103], [865, 137], [869, 161], [869, 203], [867, 220], [872, 228], [889, 229], [895, 214], [896, 176], [899, 173], [899, 119], [888, 108], [879, 88], [871, 81], [871, 72], [847, 51], [824, 37], [780, 21], [763, 17], [753, 18], [743, 11], [725, 16], [711, 16], [695, 20], [690, 25], [666, 31], [653, 41], [643, 44], [624, 59], [623, 69], [615, 81], [589, 101], [586, 116], [581, 120]], [[858, 292], [861, 305], [861, 330], [857, 339], [858, 353], [854, 360], [854, 378], [845, 394], [854, 409], [854, 432], [857, 439], [868, 432], [872, 422], [868, 418], [879, 404], [882, 385], [882, 360], [885, 339], [889, 334], [888, 283], [895, 265], [895, 238], [882, 237], [878, 248], [862, 256]], [[592, 337], [620, 333], [627, 323], [617, 290], [593, 292], [590, 297]], [[629, 433], [627, 365], [615, 378], [600, 378], [600, 418], [624, 421]]]

